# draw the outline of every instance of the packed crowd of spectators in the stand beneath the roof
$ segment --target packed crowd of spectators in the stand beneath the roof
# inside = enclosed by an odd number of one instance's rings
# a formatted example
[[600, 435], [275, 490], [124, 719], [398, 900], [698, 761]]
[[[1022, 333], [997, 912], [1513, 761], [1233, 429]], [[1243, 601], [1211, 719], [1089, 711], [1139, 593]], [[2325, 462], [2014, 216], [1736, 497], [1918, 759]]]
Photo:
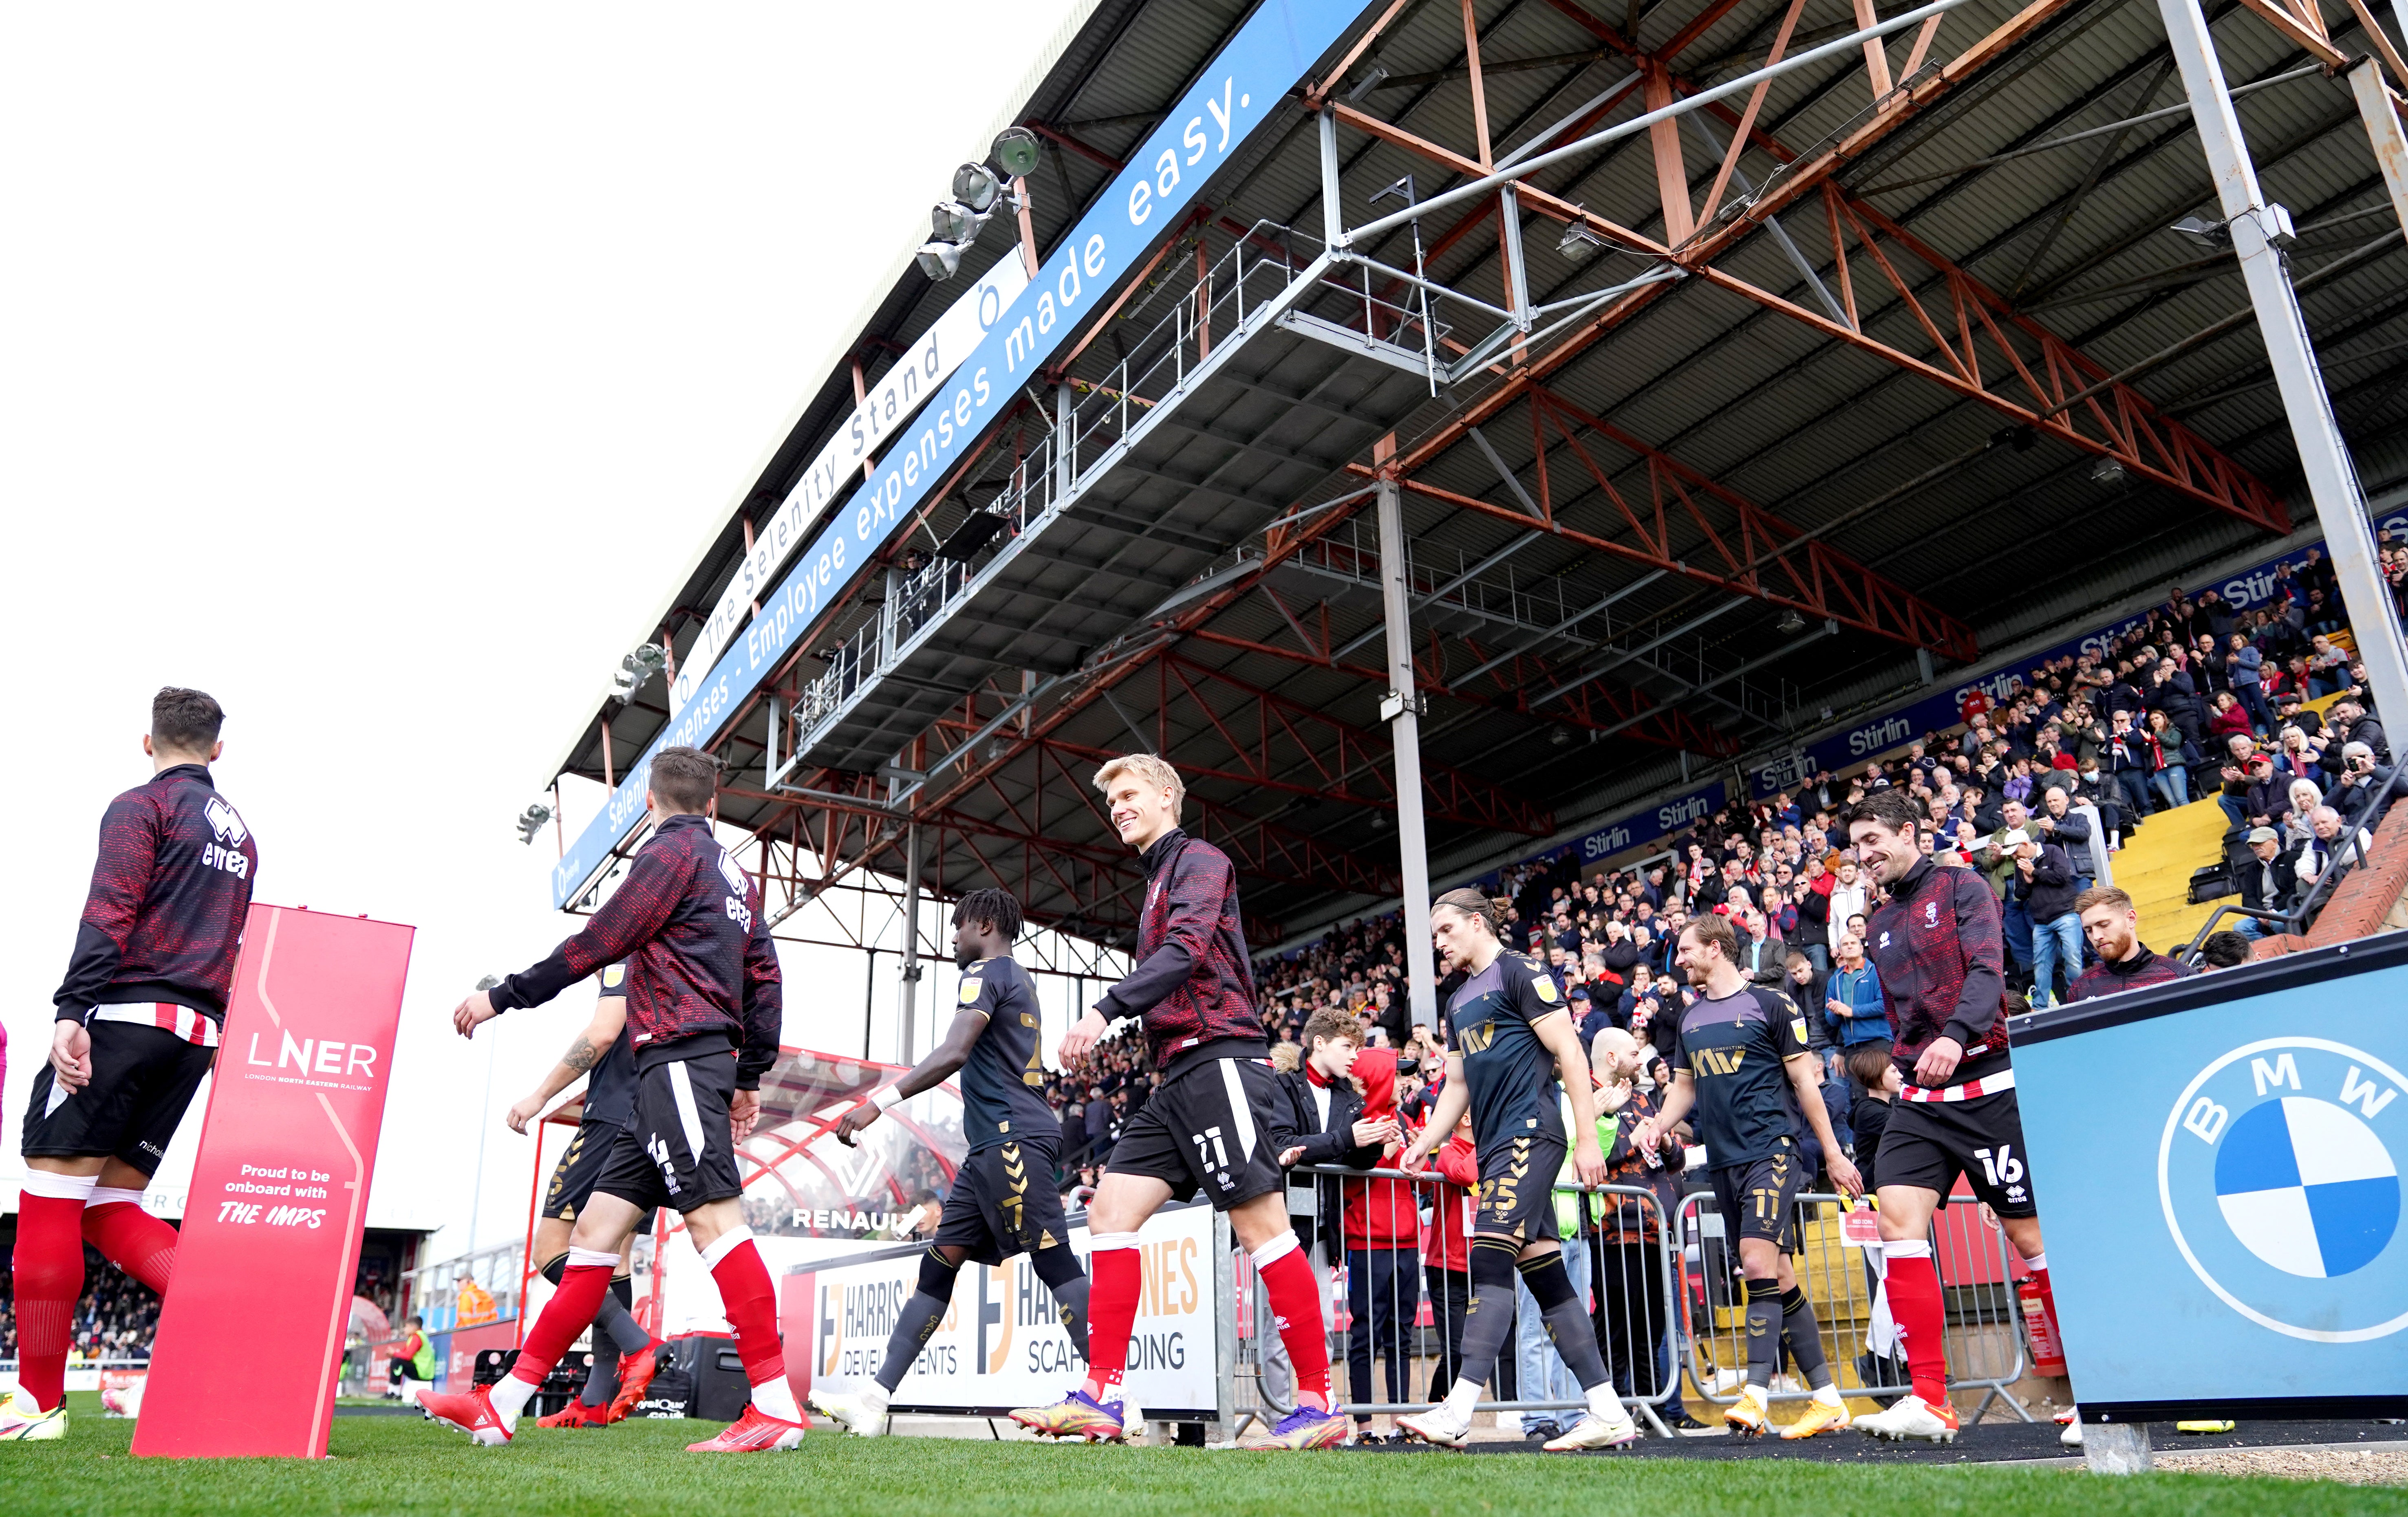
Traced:
[[[2386, 549], [2386, 566], [2408, 595], [2408, 549]], [[1727, 915], [1743, 968], [1767, 985], [1787, 980], [1818, 1011], [1808, 1031], [1835, 1069], [1832, 1115], [1845, 1132], [1842, 1055], [1885, 1040], [1888, 1023], [1857, 937], [1873, 903], [1832, 821], [1842, 807], [1878, 787], [1914, 795], [1924, 850], [1989, 876], [2011, 987], [2052, 1004], [2095, 961], [2076, 898], [2158, 811], [2213, 795], [2230, 819], [2242, 905], [2256, 910], [2292, 910], [2336, 862], [2365, 860], [2391, 746], [2345, 633], [2331, 563], [2314, 549], [2297, 568], [2278, 566], [2249, 609], [2215, 590], [2174, 588], [2100, 648], [1977, 686], [1958, 725], [1926, 732], [1902, 756], [1727, 804], [1642, 864], [1582, 869], [1558, 850], [1483, 884], [1507, 901], [1507, 939], [1548, 966], [1584, 1038], [1613, 1026], [1659, 1050], [1688, 994], [1674, 975], [1681, 925]], [[2324, 696], [2341, 701], [2319, 715], [2309, 703]], [[2261, 932], [2254, 917], [2239, 927], [2242, 939]], [[1435, 1098], [1442, 1062], [1418, 1055], [1442, 1047], [1445, 1016], [1413, 1026], [1399, 913], [1332, 927], [1305, 949], [1257, 961], [1255, 975], [1274, 1045], [1296, 1045], [1315, 1011], [1344, 1009], [1370, 1045], [1406, 1055], [1406, 1115]], [[1153, 1086], [1134, 1028], [1060, 1072], [1047, 1093], [1064, 1165], [1110, 1153]]]

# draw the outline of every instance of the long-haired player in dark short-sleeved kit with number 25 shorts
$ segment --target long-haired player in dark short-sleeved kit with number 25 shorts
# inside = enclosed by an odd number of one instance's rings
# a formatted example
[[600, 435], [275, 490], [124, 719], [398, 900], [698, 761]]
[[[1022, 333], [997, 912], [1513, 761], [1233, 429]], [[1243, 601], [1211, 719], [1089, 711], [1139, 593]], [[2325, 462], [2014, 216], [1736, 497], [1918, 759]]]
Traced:
[[[1613, 1377], [1597, 1348], [1589, 1305], [1563, 1271], [1556, 1242], [1553, 1182], [1570, 1146], [1582, 1185], [1606, 1182], [1597, 1146], [1597, 1084], [1580, 1050], [1580, 1028], [1536, 958], [1512, 954], [1498, 937], [1495, 905], [1479, 891], [1447, 891], [1430, 908], [1430, 939], [1440, 973], [1469, 978], [1447, 1002], [1447, 1084], [1430, 1125], [1397, 1161], [1418, 1175], [1423, 1161], [1471, 1110], [1471, 1149], [1481, 1165], [1471, 1235], [1471, 1308], [1464, 1312], [1462, 1368], [1447, 1399], [1421, 1416], [1397, 1418], [1409, 1438], [1462, 1447], [1471, 1409], [1495, 1375], [1512, 1334], [1515, 1271], [1529, 1286], [1556, 1353], [1589, 1401], [1570, 1433], [1541, 1445], [1551, 1454], [1611, 1450], [1640, 1435], [1613, 1394]], [[1563, 1081], [1558, 1093], [1556, 1081]], [[1563, 1096], [1572, 1105], [1577, 1141], [1563, 1139]]]

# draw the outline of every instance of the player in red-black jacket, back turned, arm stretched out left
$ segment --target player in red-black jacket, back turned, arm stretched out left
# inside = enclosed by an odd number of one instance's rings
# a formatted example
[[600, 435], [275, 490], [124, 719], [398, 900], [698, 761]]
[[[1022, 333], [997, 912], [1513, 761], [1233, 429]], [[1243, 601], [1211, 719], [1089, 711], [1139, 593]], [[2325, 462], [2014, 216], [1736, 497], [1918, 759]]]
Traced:
[[761, 1072], [778, 1059], [778, 956], [761, 889], [710, 833], [718, 758], [662, 749], [645, 771], [653, 838], [583, 932], [491, 992], [460, 1002], [462, 1038], [506, 1007], [535, 1007], [604, 963], [628, 961], [626, 1028], [636, 1112], [568, 1233], [559, 1291], [527, 1329], [510, 1375], [462, 1394], [419, 1392], [438, 1423], [510, 1442], [518, 1413], [602, 1308], [619, 1250], [653, 1206], [674, 1206], [720, 1286], [751, 1382], [751, 1406], [691, 1452], [749, 1454], [802, 1442], [802, 1409], [778, 1348], [778, 1295], [744, 1226], [737, 1144], [761, 1117]]

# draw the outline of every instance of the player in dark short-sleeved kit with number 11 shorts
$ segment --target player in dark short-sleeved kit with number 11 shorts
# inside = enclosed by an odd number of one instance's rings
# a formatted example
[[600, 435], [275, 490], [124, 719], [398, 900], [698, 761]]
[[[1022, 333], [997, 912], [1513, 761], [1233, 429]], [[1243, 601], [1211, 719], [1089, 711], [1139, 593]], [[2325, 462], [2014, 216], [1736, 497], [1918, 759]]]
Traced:
[[1864, 1180], [1830, 1134], [1823, 1062], [1806, 1047], [1806, 1014], [1780, 990], [1748, 985], [1736, 949], [1729, 917], [1698, 917], [1681, 929], [1678, 963], [1698, 1002], [1681, 1011], [1664, 1110], [1640, 1122], [1630, 1141], [1654, 1144], [1695, 1115], [1714, 1206], [1739, 1238], [1739, 1269], [1748, 1276], [1748, 1382], [1722, 1421], [1741, 1435], [1765, 1430], [1772, 1375], [1787, 1346], [1816, 1399], [1782, 1438], [1811, 1438], [1845, 1428], [1847, 1406], [1789, 1264], [1799, 1247], [1796, 1199], [1808, 1177], [1801, 1134], [1813, 1132], [1823, 1144], [1823, 1163], [1840, 1190], [1857, 1194]]

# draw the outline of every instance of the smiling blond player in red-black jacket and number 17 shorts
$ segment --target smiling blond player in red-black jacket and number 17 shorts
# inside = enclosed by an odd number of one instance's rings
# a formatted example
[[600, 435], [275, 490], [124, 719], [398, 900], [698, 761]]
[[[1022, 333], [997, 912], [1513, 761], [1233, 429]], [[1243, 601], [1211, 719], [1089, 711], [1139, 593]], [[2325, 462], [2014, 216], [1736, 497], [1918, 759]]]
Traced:
[[1346, 1421], [1329, 1416], [1320, 1286], [1288, 1228], [1279, 1153], [1291, 1120], [1281, 1115], [1286, 1100], [1255, 1007], [1238, 872], [1226, 852], [1180, 831], [1187, 787], [1163, 758], [1112, 758], [1096, 771], [1096, 790], [1112, 831], [1146, 860], [1146, 903], [1137, 915], [1137, 968], [1062, 1038], [1062, 1064], [1091, 1050], [1115, 1019], [1139, 1016], [1163, 1084], [1122, 1129], [1086, 1209], [1093, 1230], [1086, 1382], [1055, 1406], [1014, 1411], [1011, 1421], [1045, 1438], [1120, 1442], [1141, 1418], [1120, 1394], [1144, 1279], [1137, 1228], [1163, 1202], [1202, 1190], [1252, 1255], [1296, 1360], [1296, 1411], [1259, 1447], [1329, 1447], [1346, 1438]]

